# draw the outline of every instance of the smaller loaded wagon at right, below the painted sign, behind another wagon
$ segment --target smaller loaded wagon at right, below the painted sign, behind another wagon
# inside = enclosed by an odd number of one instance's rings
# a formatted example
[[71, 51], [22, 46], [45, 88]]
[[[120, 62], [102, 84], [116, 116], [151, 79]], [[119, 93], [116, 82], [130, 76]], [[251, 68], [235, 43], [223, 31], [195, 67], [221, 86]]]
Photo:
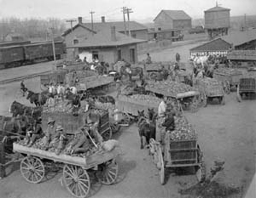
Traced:
[[213, 78], [222, 81], [226, 94], [231, 92], [231, 88], [237, 87], [243, 73], [237, 69], [221, 68], [213, 73]]

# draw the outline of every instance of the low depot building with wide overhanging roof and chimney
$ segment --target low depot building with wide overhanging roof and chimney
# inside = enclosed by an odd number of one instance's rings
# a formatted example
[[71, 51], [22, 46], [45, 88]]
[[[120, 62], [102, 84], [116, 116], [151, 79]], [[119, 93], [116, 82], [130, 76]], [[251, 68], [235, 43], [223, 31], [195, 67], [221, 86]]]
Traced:
[[[73, 30], [73, 33], [75, 30]], [[67, 46], [68, 59], [79, 55], [81, 59], [91, 61], [97, 58], [101, 62], [115, 63], [124, 59], [130, 63], [138, 61], [137, 44], [147, 40], [128, 37], [116, 31], [115, 26], [101, 26], [96, 33], [91, 31], [86, 37], [77, 38], [77, 42]]]

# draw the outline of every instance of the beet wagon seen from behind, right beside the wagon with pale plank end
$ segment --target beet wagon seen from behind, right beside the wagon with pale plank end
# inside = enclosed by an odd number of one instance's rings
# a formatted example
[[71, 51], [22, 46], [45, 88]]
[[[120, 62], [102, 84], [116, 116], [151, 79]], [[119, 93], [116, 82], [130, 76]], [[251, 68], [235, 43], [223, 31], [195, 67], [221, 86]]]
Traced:
[[221, 81], [213, 78], [204, 77], [196, 79], [194, 86], [200, 91], [203, 96], [204, 106], [209, 100], [218, 99], [219, 103], [225, 104], [225, 92]]

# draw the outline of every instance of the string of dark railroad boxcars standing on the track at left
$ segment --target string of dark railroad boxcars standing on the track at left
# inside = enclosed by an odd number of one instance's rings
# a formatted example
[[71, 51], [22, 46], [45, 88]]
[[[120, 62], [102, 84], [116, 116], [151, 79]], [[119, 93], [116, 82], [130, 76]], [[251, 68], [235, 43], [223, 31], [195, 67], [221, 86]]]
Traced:
[[[55, 41], [56, 59], [65, 53], [62, 41]], [[52, 42], [0, 47], [0, 69], [33, 64], [36, 60], [53, 60]]]

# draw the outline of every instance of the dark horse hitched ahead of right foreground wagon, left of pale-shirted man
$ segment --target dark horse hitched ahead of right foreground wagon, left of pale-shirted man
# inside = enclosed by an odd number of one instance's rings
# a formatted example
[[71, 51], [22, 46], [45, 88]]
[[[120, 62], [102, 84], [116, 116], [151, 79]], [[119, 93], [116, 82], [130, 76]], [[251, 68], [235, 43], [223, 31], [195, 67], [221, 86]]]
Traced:
[[146, 144], [149, 145], [151, 138], [154, 138], [156, 134], [156, 128], [153, 128], [150, 124], [149, 119], [144, 115], [144, 110], [138, 111], [138, 126], [139, 126], [139, 136], [141, 142], [141, 149], [144, 148], [143, 137], [146, 140]]

